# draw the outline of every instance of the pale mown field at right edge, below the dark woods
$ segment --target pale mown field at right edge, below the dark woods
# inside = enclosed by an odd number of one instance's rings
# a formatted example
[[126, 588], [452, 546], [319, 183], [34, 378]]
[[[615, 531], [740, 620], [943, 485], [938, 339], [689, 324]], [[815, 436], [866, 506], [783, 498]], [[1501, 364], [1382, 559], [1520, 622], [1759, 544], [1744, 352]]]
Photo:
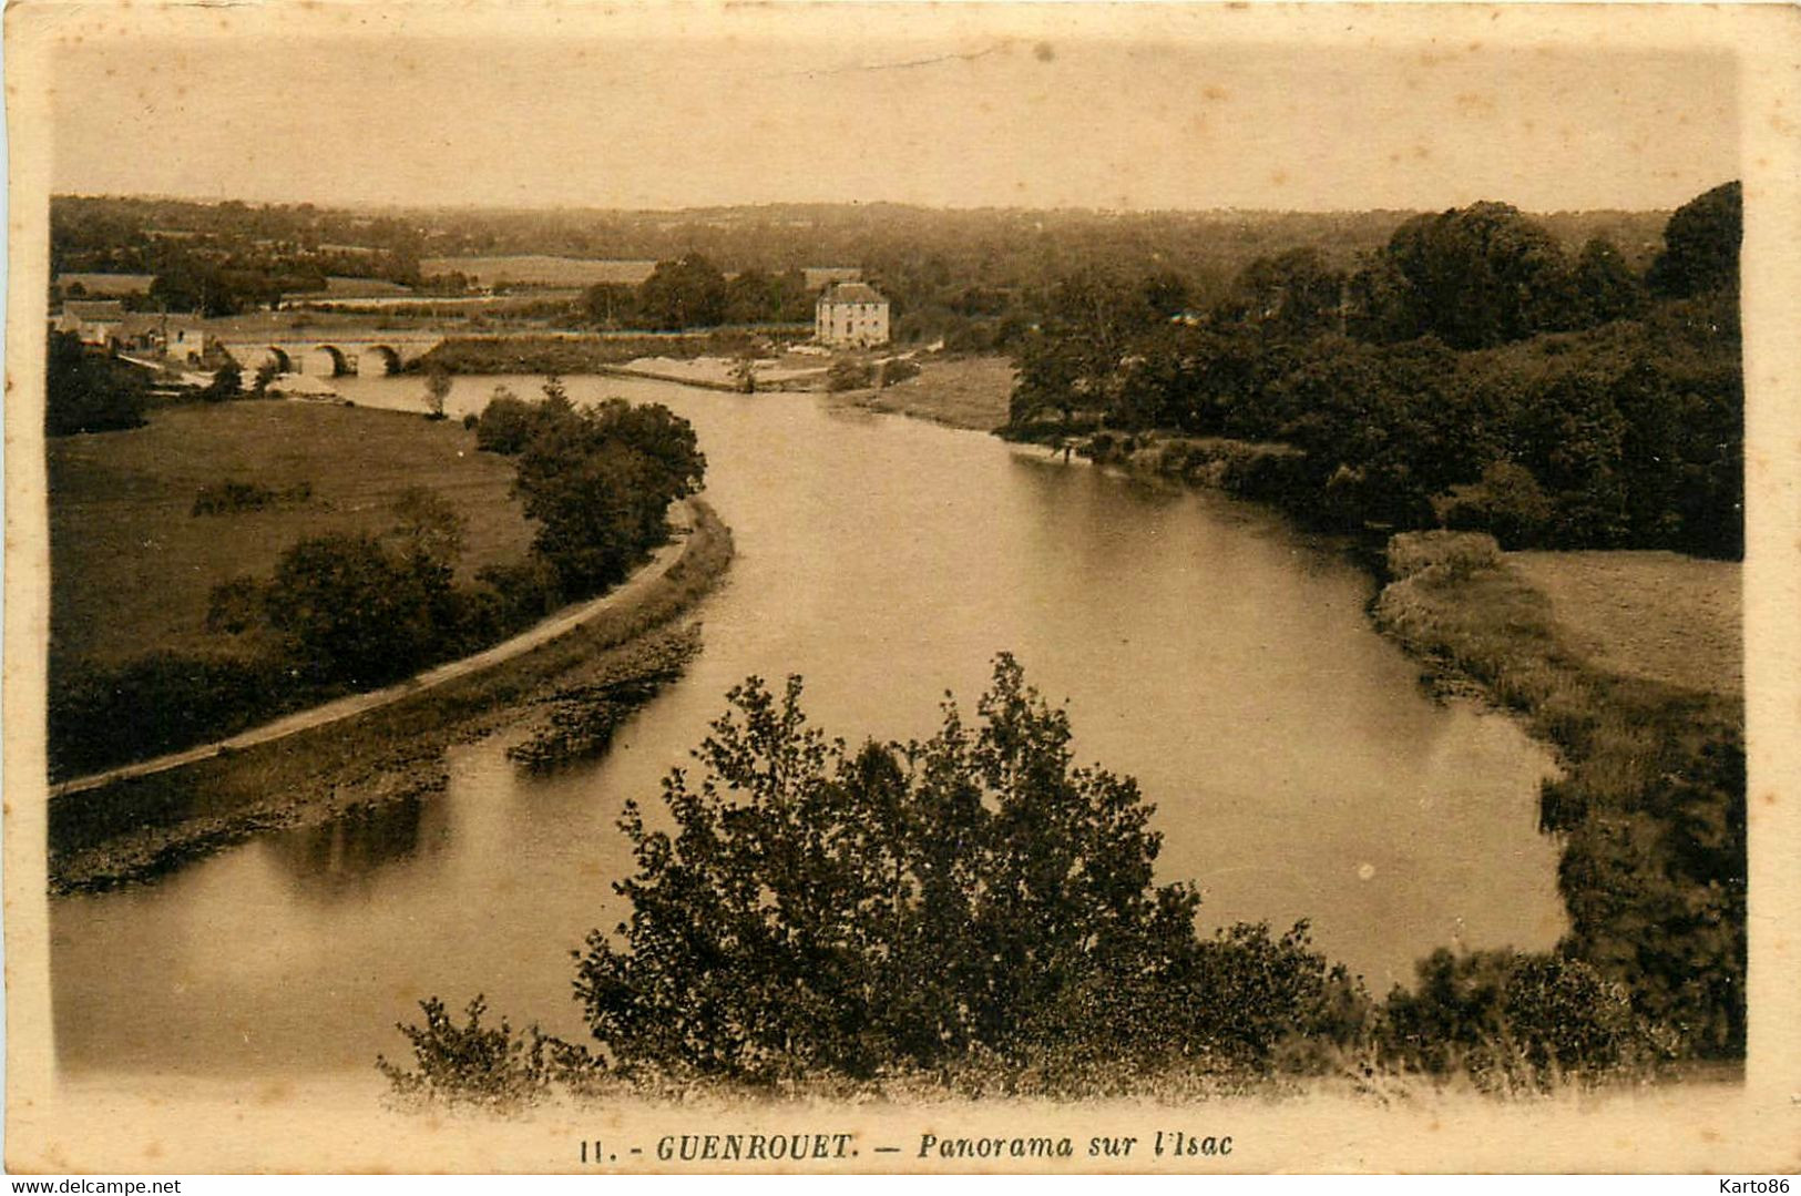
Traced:
[[1745, 692], [1740, 569], [1677, 553], [1511, 553], [1594, 666], [1646, 681]]

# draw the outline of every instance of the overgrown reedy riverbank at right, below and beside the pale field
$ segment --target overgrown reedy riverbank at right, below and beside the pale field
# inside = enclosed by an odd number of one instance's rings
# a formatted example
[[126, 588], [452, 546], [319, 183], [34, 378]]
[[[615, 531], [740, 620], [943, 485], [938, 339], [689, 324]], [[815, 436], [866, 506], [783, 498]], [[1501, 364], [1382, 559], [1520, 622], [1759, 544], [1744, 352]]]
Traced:
[[[1542, 569], [1522, 569], [1484, 535], [1398, 535], [1374, 620], [1435, 684], [1473, 688], [1556, 748], [1563, 775], [1540, 791], [1540, 827], [1563, 845], [1561, 949], [1623, 983], [1641, 1014], [1670, 1027], [1679, 1057], [1742, 1057], [1743, 697], [1725, 672], [1677, 684], [1623, 668], [1655, 656], [1628, 636], [1590, 656], [1531, 584]], [[1641, 602], [1670, 618], [1668, 594]], [[1702, 609], [1686, 621], [1706, 623]]]

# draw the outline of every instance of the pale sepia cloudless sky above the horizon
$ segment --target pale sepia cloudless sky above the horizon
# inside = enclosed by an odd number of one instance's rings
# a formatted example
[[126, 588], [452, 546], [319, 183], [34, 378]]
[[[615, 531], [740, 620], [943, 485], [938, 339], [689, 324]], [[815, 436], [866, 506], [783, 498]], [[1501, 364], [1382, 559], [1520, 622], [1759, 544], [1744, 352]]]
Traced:
[[[1738, 175], [1731, 58], [928, 22], [821, 36], [65, 40], [52, 189], [315, 204], [1664, 209]], [[796, 36], [789, 36], [796, 32]]]

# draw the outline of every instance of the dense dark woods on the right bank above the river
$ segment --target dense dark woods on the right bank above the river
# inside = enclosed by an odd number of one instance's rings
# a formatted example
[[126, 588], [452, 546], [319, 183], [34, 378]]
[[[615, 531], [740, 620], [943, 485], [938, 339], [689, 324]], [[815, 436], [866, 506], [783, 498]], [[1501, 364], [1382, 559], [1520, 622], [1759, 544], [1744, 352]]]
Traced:
[[1259, 258], [1205, 308], [1158, 272], [1075, 274], [1019, 349], [1009, 432], [1093, 432], [1099, 456], [1176, 436], [1171, 472], [1223, 461], [1226, 488], [1333, 526], [1736, 558], [1740, 236], [1733, 182], [1671, 214], [1643, 268], [1475, 204], [1353, 268]]

